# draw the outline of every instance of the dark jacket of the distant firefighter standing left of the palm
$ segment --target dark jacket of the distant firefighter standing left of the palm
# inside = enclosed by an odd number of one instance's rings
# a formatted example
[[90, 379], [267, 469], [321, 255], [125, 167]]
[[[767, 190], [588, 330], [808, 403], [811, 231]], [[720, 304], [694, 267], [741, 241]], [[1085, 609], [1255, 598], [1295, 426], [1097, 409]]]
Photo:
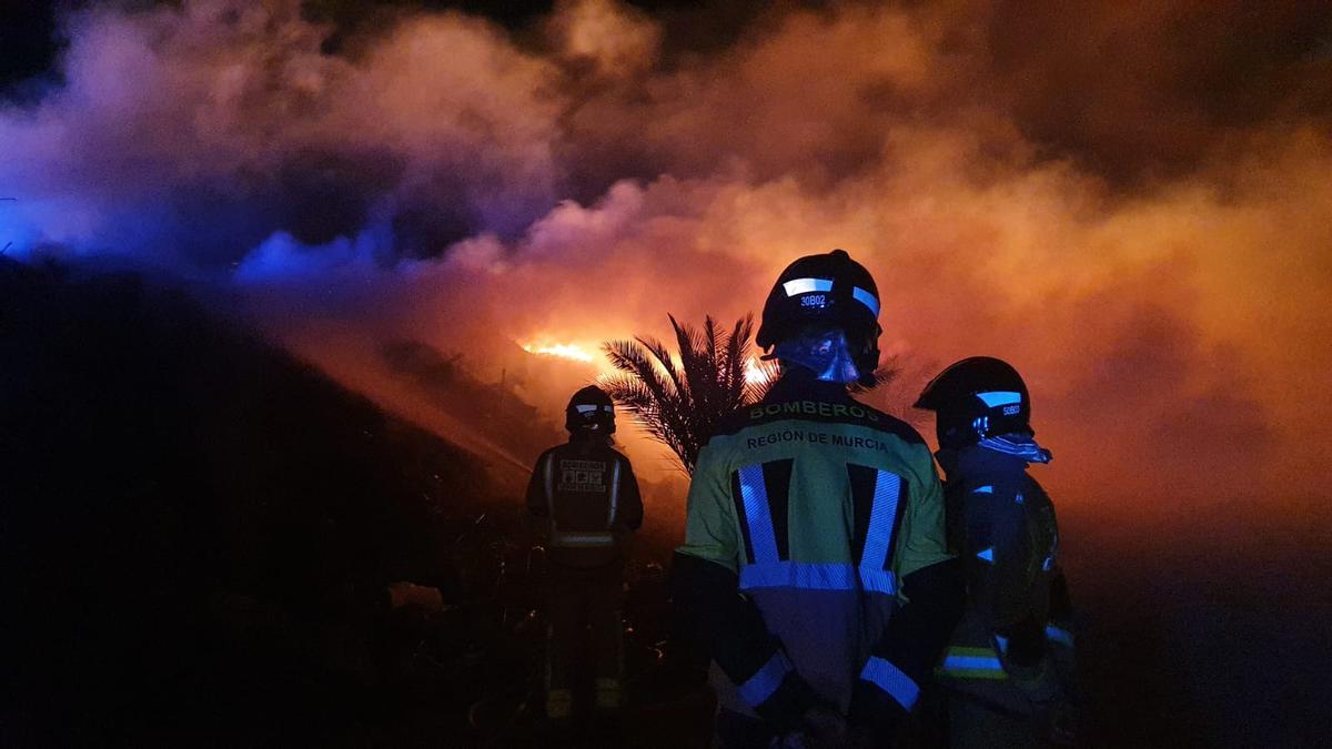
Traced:
[[621, 537], [643, 522], [629, 458], [603, 437], [579, 434], [537, 458], [527, 482], [527, 512], [549, 522], [550, 561], [565, 566], [618, 560]]

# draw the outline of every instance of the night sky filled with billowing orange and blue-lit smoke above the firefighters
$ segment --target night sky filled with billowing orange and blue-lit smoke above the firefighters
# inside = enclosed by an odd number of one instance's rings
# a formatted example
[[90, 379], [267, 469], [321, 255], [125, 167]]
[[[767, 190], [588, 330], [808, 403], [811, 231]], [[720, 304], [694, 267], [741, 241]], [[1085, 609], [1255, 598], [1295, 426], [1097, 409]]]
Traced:
[[840, 247], [906, 390], [1027, 374], [1056, 485], [1325, 494], [1332, 5], [653, 5], [71, 11], [0, 245], [214, 285], [353, 384], [734, 320]]

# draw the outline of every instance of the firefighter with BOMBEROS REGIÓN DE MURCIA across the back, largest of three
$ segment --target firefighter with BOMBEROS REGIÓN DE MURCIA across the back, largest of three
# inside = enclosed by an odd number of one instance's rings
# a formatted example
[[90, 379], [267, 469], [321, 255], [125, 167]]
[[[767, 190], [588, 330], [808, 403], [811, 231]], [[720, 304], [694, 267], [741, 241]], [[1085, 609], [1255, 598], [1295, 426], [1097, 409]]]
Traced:
[[699, 453], [675, 600], [723, 746], [886, 745], [962, 613], [930, 448], [847, 390], [872, 380], [878, 312], [846, 252], [793, 263], [757, 339], [781, 378]]

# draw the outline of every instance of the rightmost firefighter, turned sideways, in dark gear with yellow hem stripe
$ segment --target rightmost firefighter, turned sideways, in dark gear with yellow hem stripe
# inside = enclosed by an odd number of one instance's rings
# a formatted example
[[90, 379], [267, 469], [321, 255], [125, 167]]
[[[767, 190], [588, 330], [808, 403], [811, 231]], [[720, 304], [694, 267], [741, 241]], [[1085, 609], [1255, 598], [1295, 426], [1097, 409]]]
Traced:
[[950, 536], [967, 577], [967, 610], [936, 670], [948, 745], [1071, 744], [1071, 606], [1055, 508], [1027, 474], [1050, 461], [1027, 385], [1004, 361], [966, 359], [916, 408], [935, 412]]

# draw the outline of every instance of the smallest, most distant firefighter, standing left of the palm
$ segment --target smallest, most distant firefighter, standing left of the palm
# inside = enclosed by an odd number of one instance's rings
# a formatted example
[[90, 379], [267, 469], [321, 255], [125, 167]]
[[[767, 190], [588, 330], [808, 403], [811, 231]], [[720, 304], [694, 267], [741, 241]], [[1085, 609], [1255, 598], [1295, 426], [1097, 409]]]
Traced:
[[546, 714], [573, 709], [571, 657], [590, 630], [595, 657], [595, 702], [614, 710], [622, 701], [619, 608], [629, 537], [642, 525], [643, 502], [629, 458], [610, 445], [615, 406], [587, 386], [569, 401], [569, 442], [537, 458], [527, 484], [527, 512], [547, 538]]

